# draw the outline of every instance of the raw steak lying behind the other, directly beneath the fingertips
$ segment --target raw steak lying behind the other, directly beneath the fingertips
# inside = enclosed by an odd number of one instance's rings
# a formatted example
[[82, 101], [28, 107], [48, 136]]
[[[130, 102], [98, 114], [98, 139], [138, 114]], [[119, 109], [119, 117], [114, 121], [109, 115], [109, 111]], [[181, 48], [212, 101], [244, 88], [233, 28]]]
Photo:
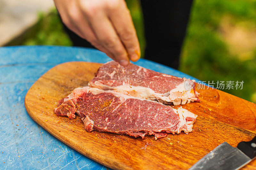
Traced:
[[132, 63], [121, 66], [111, 61], [99, 68], [96, 77], [88, 85], [102, 90], [122, 90], [134, 97], [158, 100], [164, 104], [184, 105], [199, 101], [194, 82], [195, 80], [159, 73]]

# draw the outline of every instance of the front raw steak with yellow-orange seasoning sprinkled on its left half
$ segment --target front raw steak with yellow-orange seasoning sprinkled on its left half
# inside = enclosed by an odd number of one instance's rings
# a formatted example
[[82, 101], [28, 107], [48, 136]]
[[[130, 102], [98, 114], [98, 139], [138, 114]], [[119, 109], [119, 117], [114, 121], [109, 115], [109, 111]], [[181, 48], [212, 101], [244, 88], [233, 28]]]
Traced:
[[186, 109], [177, 110], [162, 103], [136, 98], [127, 92], [104, 91], [98, 88], [76, 88], [60, 100], [54, 112], [58, 116], [81, 116], [84, 128], [100, 132], [126, 134], [133, 137], [191, 132], [197, 115]]

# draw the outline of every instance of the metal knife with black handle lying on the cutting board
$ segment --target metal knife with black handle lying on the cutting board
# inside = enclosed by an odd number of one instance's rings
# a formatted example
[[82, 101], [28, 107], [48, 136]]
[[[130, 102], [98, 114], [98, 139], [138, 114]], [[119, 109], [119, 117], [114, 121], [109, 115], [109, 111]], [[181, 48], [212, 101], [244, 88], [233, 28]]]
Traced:
[[256, 158], [256, 136], [236, 148], [224, 142], [196, 162], [189, 170], [237, 170]]

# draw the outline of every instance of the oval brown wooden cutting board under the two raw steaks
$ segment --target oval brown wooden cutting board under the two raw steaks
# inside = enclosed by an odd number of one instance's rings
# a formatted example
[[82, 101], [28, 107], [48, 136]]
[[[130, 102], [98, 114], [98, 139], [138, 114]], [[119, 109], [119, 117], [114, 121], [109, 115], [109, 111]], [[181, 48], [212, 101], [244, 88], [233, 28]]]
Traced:
[[[223, 142], [236, 147], [256, 135], [256, 105], [212, 88], [197, 89], [200, 102], [182, 106], [198, 115], [193, 132], [155, 140], [87, 132], [74, 120], [53, 113], [57, 102], [94, 78], [99, 63], [69, 62], [55, 66], [29, 89], [28, 114], [53, 136], [85, 156], [113, 169], [188, 169]], [[179, 107], [179, 106], [176, 106]], [[255, 169], [256, 160], [244, 167]]]

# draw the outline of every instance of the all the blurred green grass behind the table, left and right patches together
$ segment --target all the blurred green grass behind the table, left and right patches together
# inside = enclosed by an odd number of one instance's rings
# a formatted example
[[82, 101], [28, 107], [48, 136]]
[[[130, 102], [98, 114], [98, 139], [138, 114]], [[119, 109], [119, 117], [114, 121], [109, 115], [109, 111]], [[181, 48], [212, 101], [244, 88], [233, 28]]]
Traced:
[[[140, 47], [145, 48], [143, 16], [138, 0], [127, 1], [136, 28]], [[232, 53], [223, 37], [221, 24], [230, 18], [232, 26], [256, 25], [256, 1], [254, 0], [195, 0], [185, 38], [180, 69], [203, 81], [244, 81], [242, 90], [224, 90], [246, 100], [256, 102], [256, 47], [248, 59]], [[241, 24], [240, 24], [241, 25]], [[256, 38], [256, 37], [255, 37]], [[72, 42], [65, 34], [57, 11], [39, 14], [38, 23], [7, 45], [64, 45]]]

